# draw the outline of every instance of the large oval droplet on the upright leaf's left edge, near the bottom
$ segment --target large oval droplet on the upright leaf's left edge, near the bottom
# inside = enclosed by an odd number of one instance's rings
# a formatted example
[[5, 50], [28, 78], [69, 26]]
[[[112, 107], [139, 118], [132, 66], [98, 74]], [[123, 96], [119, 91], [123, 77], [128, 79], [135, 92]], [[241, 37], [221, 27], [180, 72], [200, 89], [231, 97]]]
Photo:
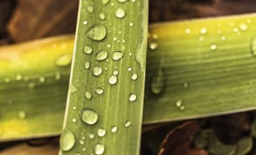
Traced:
[[64, 129], [60, 137], [60, 148], [62, 151], [70, 151], [72, 147], [75, 146], [76, 137], [74, 134], [67, 128]]

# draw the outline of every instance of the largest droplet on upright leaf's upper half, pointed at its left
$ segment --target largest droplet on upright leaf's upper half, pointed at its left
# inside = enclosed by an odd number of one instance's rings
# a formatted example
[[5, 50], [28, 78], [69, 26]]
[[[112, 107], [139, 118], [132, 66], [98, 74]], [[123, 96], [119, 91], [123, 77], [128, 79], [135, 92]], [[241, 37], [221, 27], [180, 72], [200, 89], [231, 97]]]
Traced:
[[104, 39], [106, 35], [107, 29], [102, 24], [93, 25], [86, 31], [86, 37], [96, 41]]

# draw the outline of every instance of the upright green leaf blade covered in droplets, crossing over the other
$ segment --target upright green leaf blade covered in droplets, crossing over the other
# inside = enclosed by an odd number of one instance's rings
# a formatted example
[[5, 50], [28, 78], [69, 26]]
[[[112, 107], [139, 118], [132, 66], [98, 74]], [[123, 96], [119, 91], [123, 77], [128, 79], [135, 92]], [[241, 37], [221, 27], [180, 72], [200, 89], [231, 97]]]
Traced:
[[138, 154], [147, 20], [146, 0], [81, 0], [60, 154]]

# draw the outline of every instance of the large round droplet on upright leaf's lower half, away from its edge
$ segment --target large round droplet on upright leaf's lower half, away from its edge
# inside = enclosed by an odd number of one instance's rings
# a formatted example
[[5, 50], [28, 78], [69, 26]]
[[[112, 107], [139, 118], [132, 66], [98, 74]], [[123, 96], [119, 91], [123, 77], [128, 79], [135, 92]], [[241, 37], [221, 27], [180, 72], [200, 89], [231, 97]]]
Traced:
[[98, 120], [98, 115], [96, 111], [92, 109], [85, 108], [81, 110], [81, 120], [84, 121], [86, 124], [93, 125]]

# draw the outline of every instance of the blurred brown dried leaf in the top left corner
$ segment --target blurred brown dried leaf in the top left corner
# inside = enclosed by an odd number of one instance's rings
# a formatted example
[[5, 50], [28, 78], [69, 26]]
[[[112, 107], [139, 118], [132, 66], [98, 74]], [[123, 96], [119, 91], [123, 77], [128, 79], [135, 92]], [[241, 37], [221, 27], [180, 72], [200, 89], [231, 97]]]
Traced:
[[78, 0], [18, 0], [8, 33], [22, 42], [76, 31]]

